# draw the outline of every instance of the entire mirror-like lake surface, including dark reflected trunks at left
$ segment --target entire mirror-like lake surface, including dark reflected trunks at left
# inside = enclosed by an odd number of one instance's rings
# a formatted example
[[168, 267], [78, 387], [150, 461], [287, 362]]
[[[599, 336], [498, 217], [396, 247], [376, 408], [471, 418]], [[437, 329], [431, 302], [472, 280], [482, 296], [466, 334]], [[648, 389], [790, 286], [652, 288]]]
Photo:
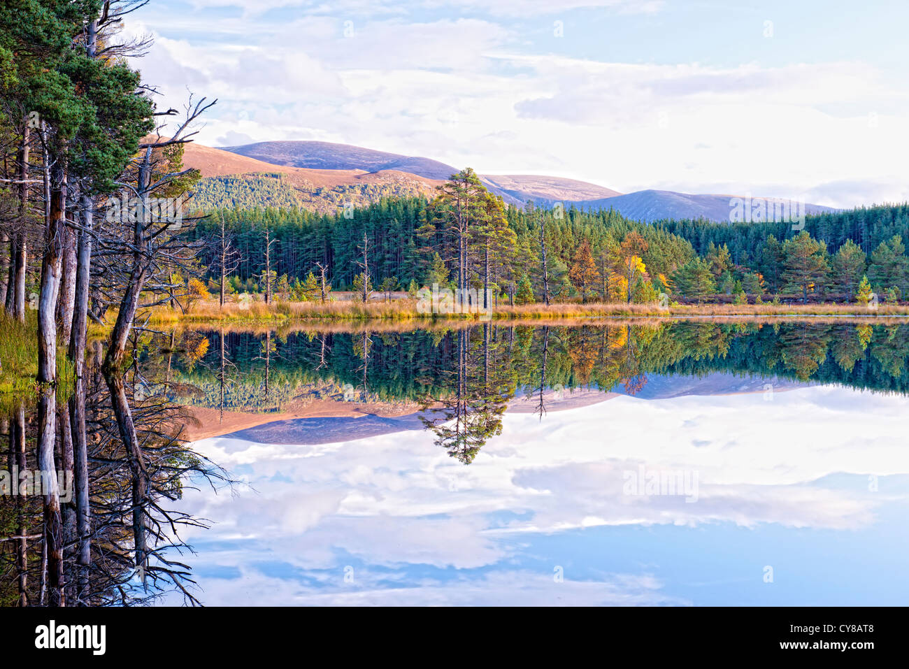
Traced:
[[[0, 499], [0, 597], [901, 603], [906, 335], [225, 327], [136, 337], [122, 374], [96, 345], [70, 396], [5, 407], [8, 469], [74, 490]], [[216, 494], [215, 464], [248, 486]]]

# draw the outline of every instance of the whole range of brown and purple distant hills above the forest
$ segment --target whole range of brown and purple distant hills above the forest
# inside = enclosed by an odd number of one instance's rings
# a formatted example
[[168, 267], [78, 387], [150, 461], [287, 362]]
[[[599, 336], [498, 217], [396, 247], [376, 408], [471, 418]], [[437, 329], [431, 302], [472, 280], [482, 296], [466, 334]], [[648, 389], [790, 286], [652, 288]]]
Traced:
[[[281, 183], [268, 185], [262, 205], [299, 201], [300, 206], [320, 212], [335, 210], [344, 202], [356, 206], [375, 202], [388, 195], [431, 197], [435, 186], [458, 171], [432, 158], [392, 154], [362, 146], [331, 142], [258, 142], [214, 149], [191, 144], [186, 165], [198, 166], [204, 176], [219, 183], [200, 186], [200, 205], [235, 206], [255, 204], [260, 177], [273, 173]], [[230, 179], [230, 176], [246, 175]], [[734, 195], [691, 195], [674, 191], [644, 190], [621, 195], [611, 188], [575, 179], [545, 175], [481, 175], [484, 185], [506, 204], [523, 206], [533, 200], [537, 206], [557, 202], [579, 209], [613, 208], [627, 218], [652, 223], [666, 218], [705, 218], [730, 221]], [[779, 198], [758, 197], [754, 201], [773, 204]], [[838, 211], [822, 205], [805, 205], [805, 213]]]

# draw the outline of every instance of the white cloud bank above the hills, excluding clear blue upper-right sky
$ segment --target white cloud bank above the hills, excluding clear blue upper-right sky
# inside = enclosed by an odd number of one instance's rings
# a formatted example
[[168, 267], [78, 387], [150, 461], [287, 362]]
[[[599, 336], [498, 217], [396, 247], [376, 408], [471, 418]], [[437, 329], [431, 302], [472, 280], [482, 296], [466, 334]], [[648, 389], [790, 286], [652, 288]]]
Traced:
[[[381, 5], [345, 18], [353, 6], [219, 19], [180, 39], [141, 14], [148, 24], [132, 29], [164, 35], [138, 65], [169, 105], [187, 86], [219, 99], [199, 135], [209, 145], [231, 134], [320, 139], [625, 193], [809, 194], [834, 206], [906, 197], [909, 89], [874, 65], [603, 62], [534, 53], [501, 15], [416, 20]], [[496, 6], [507, 15], [517, 4]], [[193, 17], [179, 25], [190, 30]]]

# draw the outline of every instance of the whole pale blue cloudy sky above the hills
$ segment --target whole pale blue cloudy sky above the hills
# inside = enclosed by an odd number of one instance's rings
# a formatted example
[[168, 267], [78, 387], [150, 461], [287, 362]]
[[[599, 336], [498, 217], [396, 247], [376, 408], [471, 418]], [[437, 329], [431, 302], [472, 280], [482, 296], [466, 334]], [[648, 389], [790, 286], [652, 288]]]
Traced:
[[321, 140], [629, 193], [909, 200], [909, 3], [152, 0], [205, 145]]

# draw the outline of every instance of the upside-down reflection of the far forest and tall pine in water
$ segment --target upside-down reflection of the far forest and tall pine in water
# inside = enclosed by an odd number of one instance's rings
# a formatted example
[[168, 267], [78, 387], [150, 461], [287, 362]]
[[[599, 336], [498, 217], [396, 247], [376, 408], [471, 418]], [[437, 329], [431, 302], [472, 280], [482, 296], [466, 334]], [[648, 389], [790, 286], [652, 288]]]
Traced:
[[[362, 405], [366, 414], [397, 407], [470, 464], [501, 434], [505, 411], [533, 407], [542, 420], [553, 406], [610, 393], [656, 398], [695, 392], [696, 385], [699, 394], [773, 394], [838, 384], [905, 394], [906, 328], [671, 322], [261, 335], [222, 329], [181, 335], [186, 355], [171, 397], [215, 406], [222, 416], [279, 414], [317, 400]], [[286, 433], [290, 424], [283, 427]]]

